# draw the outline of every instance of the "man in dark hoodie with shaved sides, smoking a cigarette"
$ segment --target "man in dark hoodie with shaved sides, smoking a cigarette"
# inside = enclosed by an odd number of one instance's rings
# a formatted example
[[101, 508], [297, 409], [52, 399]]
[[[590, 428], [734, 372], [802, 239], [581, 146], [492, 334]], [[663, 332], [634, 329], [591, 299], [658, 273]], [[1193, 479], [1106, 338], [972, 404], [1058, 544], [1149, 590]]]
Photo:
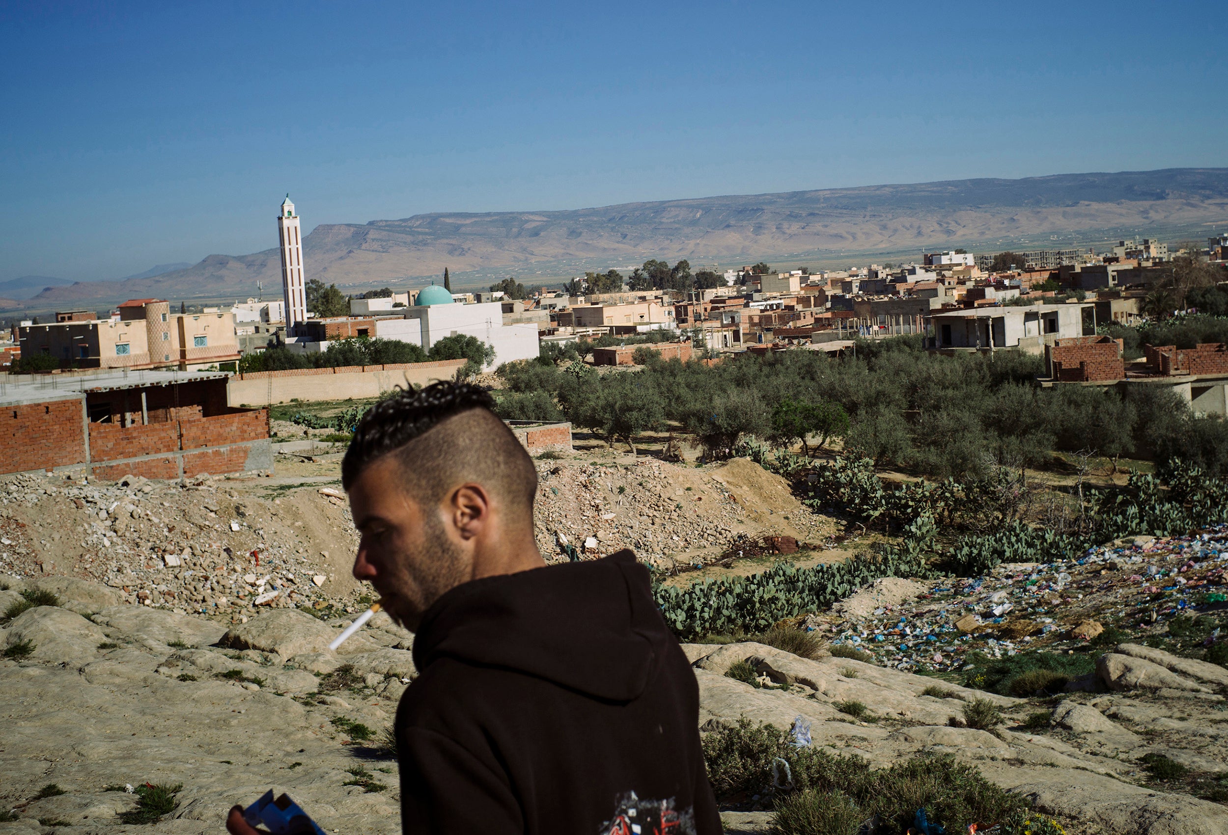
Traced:
[[491, 405], [454, 383], [383, 400], [341, 468], [354, 576], [416, 634], [404, 831], [721, 833], [699, 690], [647, 571], [630, 551], [545, 566], [537, 470]]

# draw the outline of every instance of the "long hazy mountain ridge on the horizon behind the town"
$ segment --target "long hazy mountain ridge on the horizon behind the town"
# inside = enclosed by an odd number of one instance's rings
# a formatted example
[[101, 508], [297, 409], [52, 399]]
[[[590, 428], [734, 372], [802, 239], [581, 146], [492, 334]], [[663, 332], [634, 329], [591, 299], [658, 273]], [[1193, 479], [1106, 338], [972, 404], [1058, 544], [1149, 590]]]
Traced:
[[[311, 208], [306, 210], [309, 219]], [[646, 258], [771, 259], [801, 252], [903, 252], [973, 241], [1103, 230], [1228, 223], [1228, 168], [962, 179], [777, 194], [629, 203], [561, 211], [430, 212], [319, 225], [303, 238], [308, 279], [346, 285], [425, 284], [451, 268], [513, 274], [534, 265]], [[1207, 226], [1210, 230], [1210, 226]], [[1154, 233], [1154, 232], [1153, 232]], [[273, 212], [269, 239], [276, 232]], [[155, 268], [156, 269], [156, 268]], [[125, 297], [242, 297], [280, 291], [276, 248], [209, 255], [187, 269], [124, 281], [76, 282], [29, 306]], [[0, 286], [0, 295], [5, 295]], [[11, 295], [11, 293], [10, 293]]]

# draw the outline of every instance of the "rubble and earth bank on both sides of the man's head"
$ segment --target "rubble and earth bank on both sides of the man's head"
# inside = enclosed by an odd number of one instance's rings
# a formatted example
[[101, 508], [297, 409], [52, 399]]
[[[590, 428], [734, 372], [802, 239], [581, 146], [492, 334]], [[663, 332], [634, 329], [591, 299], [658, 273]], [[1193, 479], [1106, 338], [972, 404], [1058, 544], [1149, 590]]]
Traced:
[[[538, 462], [546, 560], [570, 559], [569, 545], [581, 559], [631, 548], [659, 567], [685, 567], [834, 532], [748, 460], [631, 460]], [[0, 575], [69, 575], [104, 583], [125, 603], [231, 619], [255, 607], [355, 609], [370, 589], [349, 577], [357, 548], [349, 506], [339, 486], [312, 479], [5, 476]]]

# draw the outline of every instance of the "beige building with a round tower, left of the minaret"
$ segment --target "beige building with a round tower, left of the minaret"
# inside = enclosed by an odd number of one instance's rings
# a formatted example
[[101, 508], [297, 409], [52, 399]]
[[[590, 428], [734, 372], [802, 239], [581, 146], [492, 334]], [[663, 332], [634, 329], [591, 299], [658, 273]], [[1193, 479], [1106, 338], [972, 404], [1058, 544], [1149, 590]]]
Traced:
[[171, 313], [158, 298], [133, 298], [119, 318], [18, 329], [23, 356], [49, 354], [61, 367], [204, 368], [238, 360], [232, 313]]

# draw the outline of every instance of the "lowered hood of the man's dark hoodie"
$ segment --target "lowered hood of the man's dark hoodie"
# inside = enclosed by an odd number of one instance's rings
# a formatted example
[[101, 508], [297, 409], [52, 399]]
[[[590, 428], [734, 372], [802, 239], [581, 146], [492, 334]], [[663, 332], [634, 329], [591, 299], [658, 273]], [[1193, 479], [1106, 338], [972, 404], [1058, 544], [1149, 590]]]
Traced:
[[647, 570], [623, 550], [453, 588], [422, 616], [414, 664], [448, 657], [625, 702], [643, 693], [672, 641]]

